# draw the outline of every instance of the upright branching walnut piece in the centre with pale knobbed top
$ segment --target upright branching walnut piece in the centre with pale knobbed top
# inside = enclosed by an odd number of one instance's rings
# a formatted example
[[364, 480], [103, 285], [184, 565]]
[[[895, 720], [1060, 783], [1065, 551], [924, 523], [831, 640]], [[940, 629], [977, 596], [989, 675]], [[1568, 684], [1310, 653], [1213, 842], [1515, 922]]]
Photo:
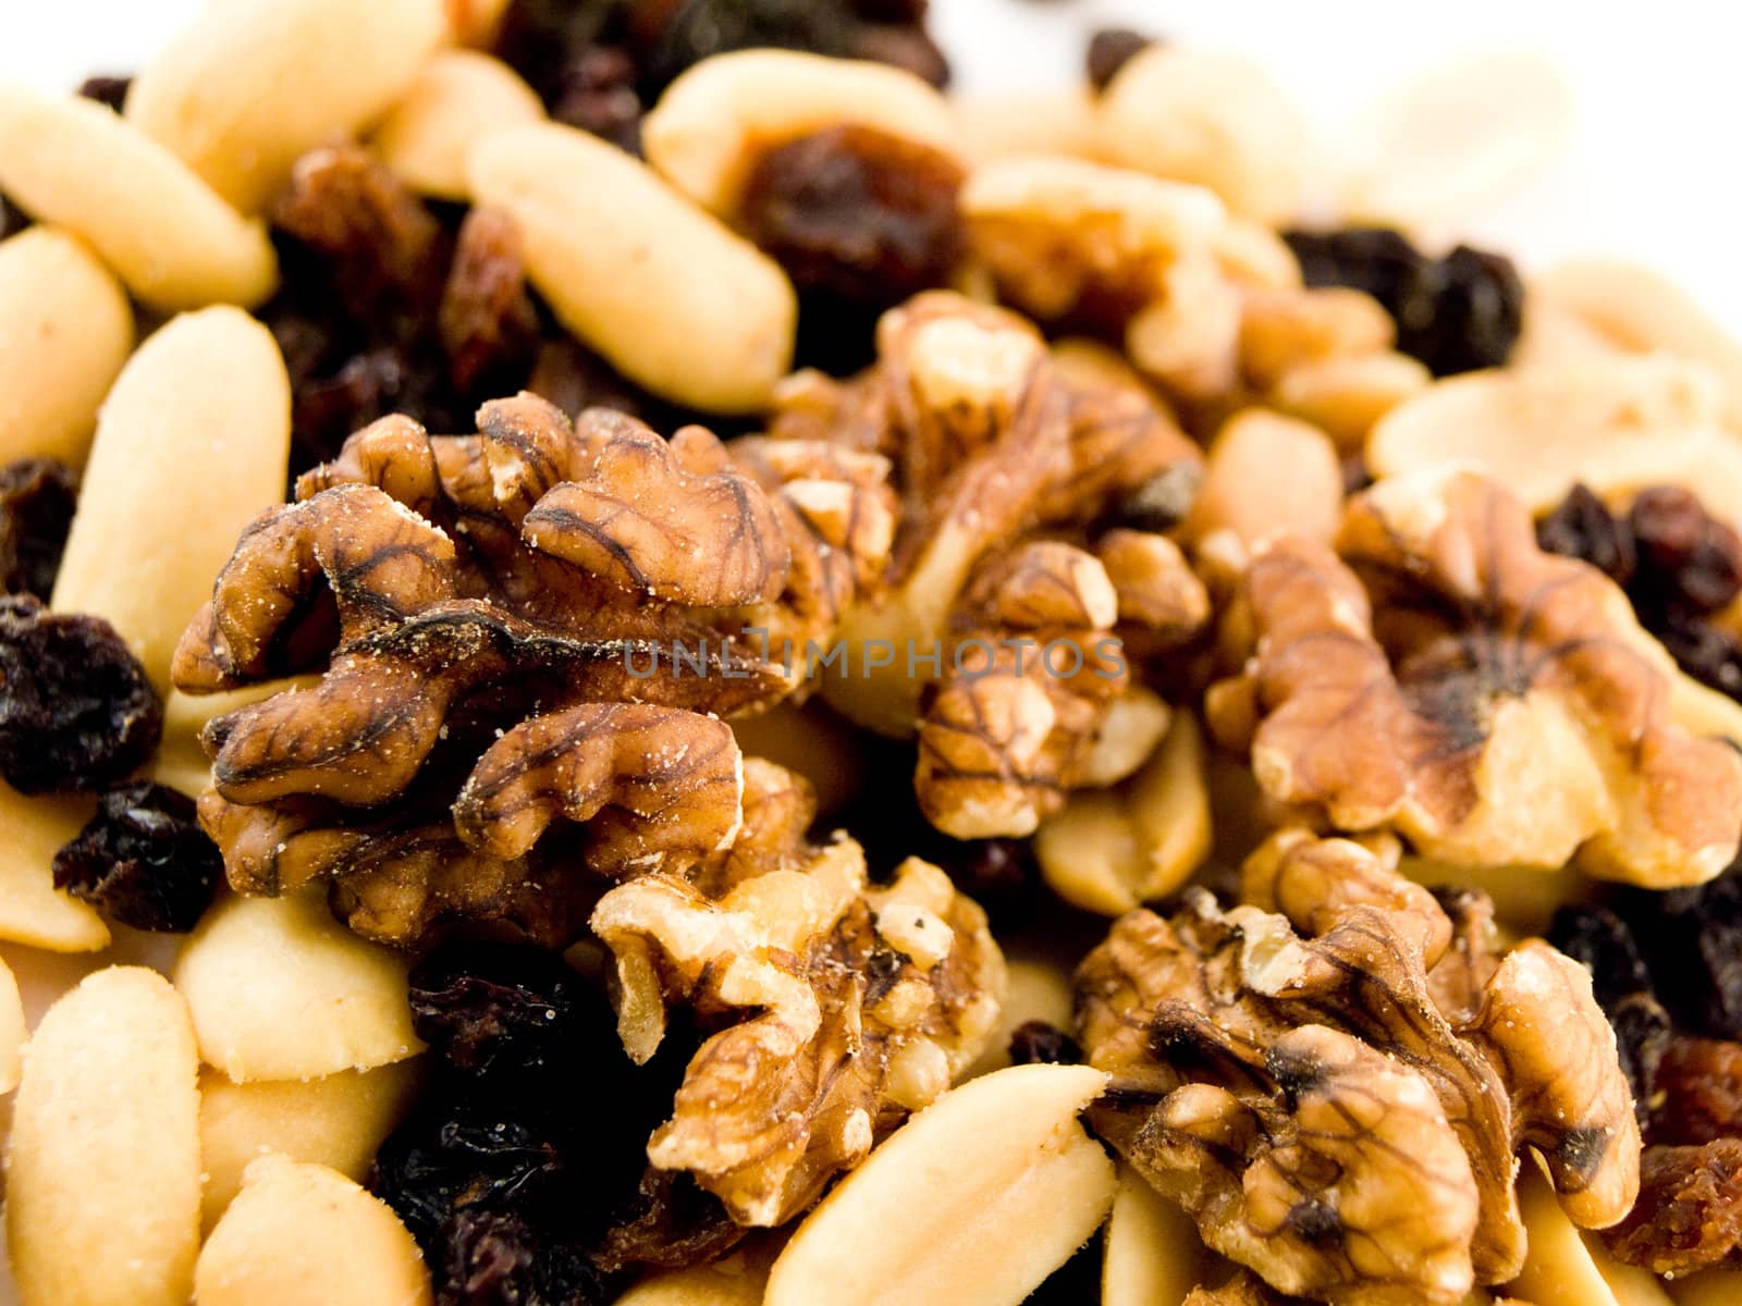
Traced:
[[859, 576], [838, 627], [845, 665], [817, 676], [859, 724], [920, 733], [916, 785], [941, 829], [1028, 834], [1073, 785], [1141, 764], [1148, 747], [1099, 768], [1125, 688], [1115, 623], [1183, 643], [1207, 604], [1171, 542], [1089, 538], [1127, 498], [1200, 465], [1124, 362], [1049, 350], [1014, 313], [928, 293], [883, 315], [871, 371], [801, 373], [779, 409], [749, 463], [833, 446], [894, 468], [888, 564]]

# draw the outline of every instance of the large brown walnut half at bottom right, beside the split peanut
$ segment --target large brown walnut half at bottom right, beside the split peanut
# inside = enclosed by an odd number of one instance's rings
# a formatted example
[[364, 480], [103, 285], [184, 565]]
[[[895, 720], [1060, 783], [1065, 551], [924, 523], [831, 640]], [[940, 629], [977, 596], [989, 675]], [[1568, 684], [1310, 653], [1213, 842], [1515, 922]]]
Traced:
[[[1627, 1214], [1639, 1132], [1578, 963], [1495, 954], [1479, 909], [1448, 916], [1348, 839], [1272, 839], [1242, 897], [1131, 912], [1077, 977], [1113, 1076], [1092, 1121], [1211, 1247], [1287, 1294], [1449, 1306], [1523, 1264], [1523, 1148], [1577, 1224]], [[1491, 965], [1444, 1010], [1477, 973], [1460, 939]]]

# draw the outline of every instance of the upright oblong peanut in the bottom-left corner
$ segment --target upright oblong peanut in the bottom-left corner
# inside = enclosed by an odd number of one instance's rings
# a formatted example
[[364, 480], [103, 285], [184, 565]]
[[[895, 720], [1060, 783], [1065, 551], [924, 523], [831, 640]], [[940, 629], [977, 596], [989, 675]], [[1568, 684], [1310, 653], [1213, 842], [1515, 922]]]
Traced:
[[183, 1306], [200, 1235], [199, 1057], [143, 966], [61, 998], [24, 1048], [7, 1148], [23, 1306]]

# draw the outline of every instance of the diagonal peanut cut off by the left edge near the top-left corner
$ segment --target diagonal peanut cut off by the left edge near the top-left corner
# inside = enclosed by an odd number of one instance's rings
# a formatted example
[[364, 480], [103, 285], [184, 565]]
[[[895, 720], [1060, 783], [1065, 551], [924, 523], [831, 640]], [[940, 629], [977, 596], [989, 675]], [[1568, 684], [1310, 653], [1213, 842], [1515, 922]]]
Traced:
[[260, 223], [91, 99], [0, 82], [0, 190], [84, 237], [127, 289], [164, 312], [251, 306], [279, 279]]

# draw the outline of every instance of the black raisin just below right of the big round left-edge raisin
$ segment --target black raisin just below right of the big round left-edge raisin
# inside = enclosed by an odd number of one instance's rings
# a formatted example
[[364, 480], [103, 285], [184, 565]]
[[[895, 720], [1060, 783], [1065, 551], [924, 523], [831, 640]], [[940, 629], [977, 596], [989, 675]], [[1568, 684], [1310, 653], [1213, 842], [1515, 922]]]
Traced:
[[223, 853], [193, 799], [141, 780], [103, 794], [98, 815], [54, 855], [54, 886], [134, 930], [186, 933], [223, 878]]

